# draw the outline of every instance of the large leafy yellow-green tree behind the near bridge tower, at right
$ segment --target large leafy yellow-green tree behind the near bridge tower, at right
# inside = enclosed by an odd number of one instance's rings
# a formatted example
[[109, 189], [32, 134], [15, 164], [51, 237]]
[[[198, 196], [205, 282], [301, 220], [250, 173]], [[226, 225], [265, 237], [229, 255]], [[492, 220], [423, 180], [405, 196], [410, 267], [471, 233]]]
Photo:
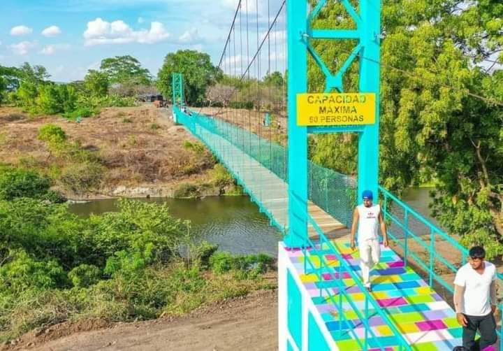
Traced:
[[[314, 27], [354, 28], [343, 6], [329, 2]], [[466, 245], [485, 245], [491, 257], [503, 252], [503, 109], [494, 102], [503, 100], [503, 75], [497, 66], [474, 63], [502, 49], [502, 15], [502, 4], [493, 0], [466, 6], [388, 0], [382, 13], [380, 183], [400, 193], [435, 182], [432, 214]], [[354, 47], [349, 41], [312, 44], [331, 71]], [[346, 92], [358, 88], [358, 66], [356, 60], [344, 77]], [[310, 60], [309, 90], [322, 91], [323, 84]], [[314, 136], [310, 155], [356, 173], [357, 143], [344, 134]]]

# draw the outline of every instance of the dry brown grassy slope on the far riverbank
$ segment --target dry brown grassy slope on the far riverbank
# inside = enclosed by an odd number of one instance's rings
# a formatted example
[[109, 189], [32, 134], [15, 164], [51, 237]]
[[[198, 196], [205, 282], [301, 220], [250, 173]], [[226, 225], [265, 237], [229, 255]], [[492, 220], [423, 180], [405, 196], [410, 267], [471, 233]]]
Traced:
[[185, 141], [196, 139], [150, 105], [105, 108], [80, 124], [58, 116], [29, 117], [16, 108], [0, 108], [0, 163], [23, 164], [45, 173], [68, 166], [68, 160], [52, 155], [37, 139], [38, 129], [47, 123], [64, 129], [69, 142], [77, 141], [81, 148], [99, 155], [107, 187], [154, 183], [159, 187], [194, 180], [197, 175], [206, 179], [207, 169], [212, 168], [209, 153], [204, 155], [208, 162], [204, 162], [201, 155], [184, 148]]

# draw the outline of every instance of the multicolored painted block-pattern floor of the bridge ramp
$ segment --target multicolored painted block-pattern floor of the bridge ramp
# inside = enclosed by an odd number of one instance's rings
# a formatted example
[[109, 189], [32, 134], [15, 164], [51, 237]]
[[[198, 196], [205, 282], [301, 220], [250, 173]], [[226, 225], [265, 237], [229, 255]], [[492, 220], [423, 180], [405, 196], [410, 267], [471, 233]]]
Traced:
[[[358, 250], [352, 252], [347, 244], [347, 239], [334, 241], [334, 243], [359, 276]], [[330, 255], [328, 250], [322, 252], [330, 266], [339, 266], [335, 255]], [[363, 340], [365, 327], [353, 308], [343, 299], [342, 309], [349, 323], [342, 323], [343, 331], [340, 333], [337, 306], [327, 298], [328, 292], [325, 290], [321, 290], [320, 296], [318, 275], [315, 273], [305, 274], [304, 255], [301, 250], [289, 250], [288, 255], [337, 346], [344, 351], [359, 350], [360, 347], [348, 328], [353, 329], [356, 336]], [[309, 259], [312, 259], [312, 262], [319, 267], [318, 257], [311, 256]], [[395, 326], [412, 345], [413, 350], [450, 351], [456, 345], [461, 345], [462, 329], [455, 319], [453, 309], [417, 273], [409, 267], [404, 267], [402, 259], [393, 250], [381, 246], [381, 262], [374, 267], [371, 274], [372, 296], [390, 319], [395, 322]], [[335, 273], [322, 275], [325, 286], [328, 286], [329, 291], [337, 296], [335, 278], [338, 278]], [[365, 296], [360, 292], [349, 273], [342, 273], [342, 282], [344, 282], [344, 287], [350, 294], [354, 305], [363, 311]], [[369, 315], [369, 324], [374, 334], [379, 338], [381, 345], [386, 347], [386, 350], [398, 350], [398, 341], [384, 320], [372, 308], [369, 309]], [[378, 347], [375, 339], [370, 340], [370, 347]]]

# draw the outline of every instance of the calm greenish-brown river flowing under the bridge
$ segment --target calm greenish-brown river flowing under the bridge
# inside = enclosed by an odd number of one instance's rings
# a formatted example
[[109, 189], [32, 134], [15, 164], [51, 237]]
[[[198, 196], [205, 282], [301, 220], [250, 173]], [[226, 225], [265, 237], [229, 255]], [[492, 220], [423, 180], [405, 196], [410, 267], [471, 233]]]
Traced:
[[[428, 203], [430, 188], [414, 187], [403, 199], [418, 213], [431, 220]], [[205, 199], [138, 199], [167, 203], [173, 217], [192, 222], [192, 230], [205, 240], [217, 243], [220, 250], [235, 254], [265, 252], [277, 255], [277, 242], [282, 234], [270, 227], [268, 217], [258, 211], [248, 196], [209, 196]], [[82, 217], [117, 210], [117, 199], [73, 203], [71, 212]], [[435, 222], [435, 221], [433, 221]]]

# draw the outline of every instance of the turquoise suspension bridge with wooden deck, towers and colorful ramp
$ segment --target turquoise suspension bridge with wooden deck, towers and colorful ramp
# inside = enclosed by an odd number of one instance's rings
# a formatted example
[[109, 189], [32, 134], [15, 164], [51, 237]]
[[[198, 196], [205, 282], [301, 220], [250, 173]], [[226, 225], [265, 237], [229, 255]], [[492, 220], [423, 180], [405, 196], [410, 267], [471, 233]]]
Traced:
[[[446, 273], [466, 263], [467, 249], [379, 186], [381, 5], [340, 3], [349, 29], [315, 25], [330, 13], [330, 1], [239, 1], [219, 62], [231, 87], [220, 87], [219, 106], [189, 108], [183, 76], [173, 74], [173, 119], [210, 148], [285, 234], [278, 248], [279, 350], [452, 350], [462, 344], [462, 328], [446, 301], [453, 293]], [[327, 64], [316, 40], [357, 43]], [[370, 121], [302, 121], [302, 94], [316, 91], [307, 80], [308, 55], [310, 69], [324, 78], [322, 96], [342, 96], [330, 93], [348, 85], [358, 87], [355, 96], [372, 97]], [[351, 84], [345, 74], [355, 65], [359, 78]], [[308, 136], [333, 133], [358, 136], [358, 176], [309, 161]], [[372, 292], [347, 238], [363, 189], [380, 194], [393, 244], [381, 245]], [[459, 252], [459, 262], [439, 245]]]

